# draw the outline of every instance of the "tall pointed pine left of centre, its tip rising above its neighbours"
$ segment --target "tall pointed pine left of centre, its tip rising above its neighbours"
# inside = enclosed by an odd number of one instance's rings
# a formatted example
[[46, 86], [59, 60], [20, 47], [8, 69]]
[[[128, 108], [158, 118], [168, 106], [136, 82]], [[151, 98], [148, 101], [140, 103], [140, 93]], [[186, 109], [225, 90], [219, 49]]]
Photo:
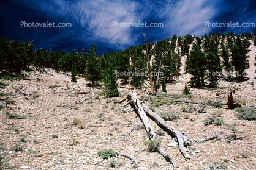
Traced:
[[92, 87], [101, 79], [100, 56], [96, 54], [96, 45], [91, 43], [88, 60], [86, 62], [85, 79], [92, 82]]

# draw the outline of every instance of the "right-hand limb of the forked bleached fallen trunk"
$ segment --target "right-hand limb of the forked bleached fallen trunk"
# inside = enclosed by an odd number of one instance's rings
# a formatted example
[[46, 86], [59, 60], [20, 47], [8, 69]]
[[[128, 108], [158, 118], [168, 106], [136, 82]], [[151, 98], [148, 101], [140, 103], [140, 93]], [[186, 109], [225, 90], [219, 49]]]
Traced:
[[152, 121], [156, 122], [157, 126], [164, 129], [170, 136], [176, 138], [179, 143], [179, 151], [183, 154], [184, 158], [189, 159], [190, 156], [184, 149], [184, 146], [191, 145], [191, 143], [187, 140], [187, 137], [182, 135], [176, 129], [174, 129], [170, 124], [168, 124], [164, 119], [158, 116], [156, 113], [152, 112], [145, 104], [142, 104], [143, 109], [146, 112], [146, 115], [152, 119]]

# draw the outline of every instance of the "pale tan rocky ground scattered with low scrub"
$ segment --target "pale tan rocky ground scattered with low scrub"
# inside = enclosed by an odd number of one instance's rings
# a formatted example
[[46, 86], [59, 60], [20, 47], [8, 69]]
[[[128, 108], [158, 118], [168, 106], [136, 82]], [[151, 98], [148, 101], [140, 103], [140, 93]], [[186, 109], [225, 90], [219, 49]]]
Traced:
[[[235, 100], [254, 107], [255, 46], [250, 50], [248, 81], [221, 81], [218, 88], [190, 88], [190, 99], [225, 102], [229, 91], [227, 87], [233, 87], [236, 88]], [[129, 105], [123, 108], [122, 104], [113, 103], [122, 99], [126, 89], [119, 88], [120, 97], [107, 99], [100, 95], [100, 88], [88, 87], [86, 84], [89, 82], [83, 78], [73, 83], [70, 76], [53, 70], [46, 73], [32, 75], [29, 77], [31, 80], [1, 80], [7, 84], [0, 89], [1, 101], [9, 101], [7, 108], [0, 111], [2, 169], [174, 169], [162, 155], [149, 152], [144, 144], [148, 136], [142, 124], [127, 135], [139, 119]], [[187, 98], [181, 93], [189, 77], [183, 71], [179, 79], [167, 85], [168, 92], [159, 92], [159, 95]], [[27, 87], [28, 95], [15, 95], [23, 87]], [[82, 91], [91, 93], [76, 93]], [[216, 96], [216, 91], [225, 91], [225, 94]], [[138, 96], [141, 94], [142, 91], [138, 90]], [[175, 158], [178, 169], [256, 169], [255, 121], [240, 120], [235, 110], [225, 110], [225, 106], [215, 108], [154, 99], [143, 99], [143, 102], [159, 115], [175, 115], [168, 123], [195, 141], [192, 147], [186, 148], [192, 158], [185, 160], [173, 138], [151, 121], [162, 140], [161, 146]], [[205, 118], [213, 115], [218, 115], [225, 122], [220, 126], [206, 126]], [[233, 135], [230, 127], [235, 127], [236, 135], [244, 138], [228, 140], [227, 136]], [[215, 133], [219, 138], [197, 143]], [[103, 160], [97, 155], [102, 149], [134, 155], [139, 163], [135, 165], [121, 156]]]

